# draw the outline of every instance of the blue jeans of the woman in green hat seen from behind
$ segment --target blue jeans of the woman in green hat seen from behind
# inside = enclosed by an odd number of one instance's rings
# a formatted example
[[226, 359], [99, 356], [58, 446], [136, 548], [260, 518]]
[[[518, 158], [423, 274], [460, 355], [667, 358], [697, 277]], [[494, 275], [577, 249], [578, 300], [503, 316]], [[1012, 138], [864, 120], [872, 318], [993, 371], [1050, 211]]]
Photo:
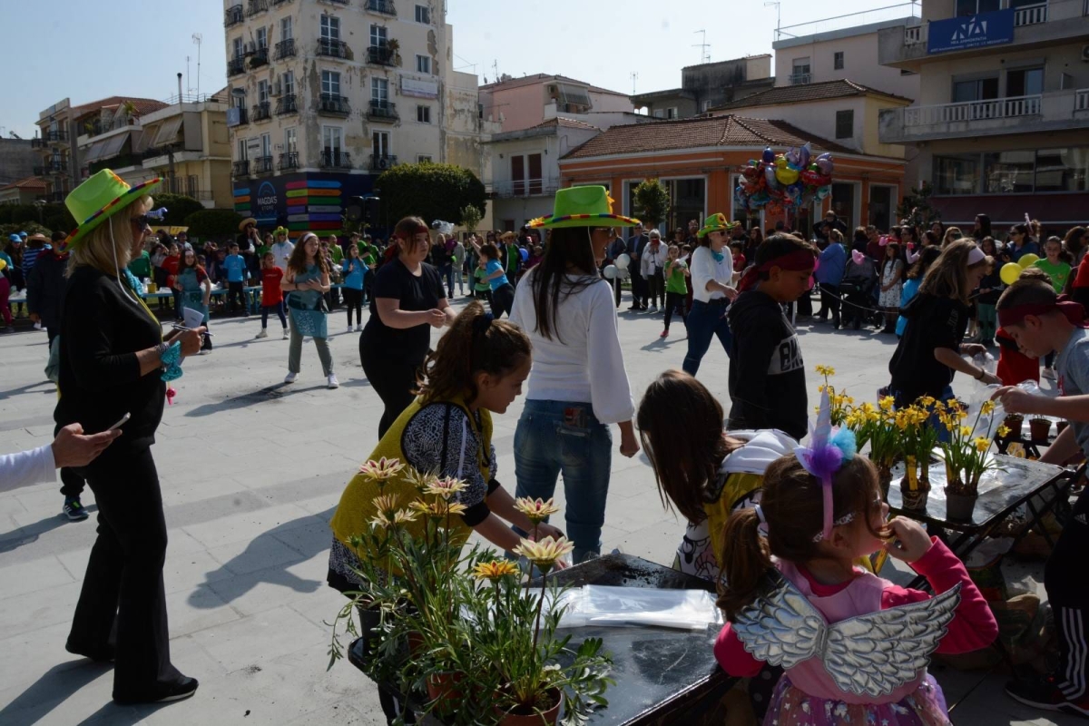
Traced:
[[515, 496], [547, 500], [563, 475], [564, 531], [575, 543], [576, 564], [601, 552], [611, 469], [612, 433], [590, 404], [526, 402], [514, 432]]

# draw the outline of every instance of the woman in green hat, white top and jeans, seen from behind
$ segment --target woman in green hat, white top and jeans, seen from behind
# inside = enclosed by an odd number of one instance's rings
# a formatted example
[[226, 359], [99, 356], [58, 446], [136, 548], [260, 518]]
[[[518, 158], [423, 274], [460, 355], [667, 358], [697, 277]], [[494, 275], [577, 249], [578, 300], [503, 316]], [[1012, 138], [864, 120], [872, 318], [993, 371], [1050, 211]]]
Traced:
[[529, 223], [552, 233], [543, 260], [518, 284], [511, 312], [511, 322], [534, 346], [526, 405], [514, 433], [516, 495], [548, 499], [563, 475], [565, 530], [576, 563], [601, 551], [610, 424], [620, 428], [622, 455], [639, 451], [612, 288], [598, 274], [612, 227], [637, 222], [610, 207], [601, 186], [556, 194], [555, 214]]

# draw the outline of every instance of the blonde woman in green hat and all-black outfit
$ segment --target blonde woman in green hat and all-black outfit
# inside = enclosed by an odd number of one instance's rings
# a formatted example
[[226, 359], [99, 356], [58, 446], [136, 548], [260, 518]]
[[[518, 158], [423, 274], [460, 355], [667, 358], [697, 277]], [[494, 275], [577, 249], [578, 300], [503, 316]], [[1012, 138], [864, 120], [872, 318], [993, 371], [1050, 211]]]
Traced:
[[[60, 401], [57, 430], [79, 421], [87, 432], [108, 430], [127, 414], [122, 435], [77, 473], [98, 504], [98, 539], [76, 604], [69, 652], [113, 660], [113, 700], [175, 701], [192, 696], [195, 678], [170, 663], [162, 566], [167, 525], [151, 444], [162, 418], [163, 355], [200, 349], [204, 328], [173, 331], [134, 290], [125, 267], [149, 232], [147, 211], [159, 185], [137, 187], [103, 169], [65, 199], [86, 220], [65, 241], [71, 250], [61, 318]], [[111, 630], [117, 642], [111, 642]]]

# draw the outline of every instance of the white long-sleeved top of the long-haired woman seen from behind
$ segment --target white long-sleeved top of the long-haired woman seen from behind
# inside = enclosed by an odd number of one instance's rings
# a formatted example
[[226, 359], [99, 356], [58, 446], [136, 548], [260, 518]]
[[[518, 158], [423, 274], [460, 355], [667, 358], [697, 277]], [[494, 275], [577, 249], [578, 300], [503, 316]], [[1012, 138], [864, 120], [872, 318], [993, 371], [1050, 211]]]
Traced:
[[526, 331], [534, 346], [526, 398], [589, 403], [602, 423], [631, 421], [635, 404], [616, 332], [612, 286], [596, 278], [577, 294], [561, 295], [549, 340], [536, 330], [531, 283], [538, 269], [518, 282], [511, 310], [511, 322]]

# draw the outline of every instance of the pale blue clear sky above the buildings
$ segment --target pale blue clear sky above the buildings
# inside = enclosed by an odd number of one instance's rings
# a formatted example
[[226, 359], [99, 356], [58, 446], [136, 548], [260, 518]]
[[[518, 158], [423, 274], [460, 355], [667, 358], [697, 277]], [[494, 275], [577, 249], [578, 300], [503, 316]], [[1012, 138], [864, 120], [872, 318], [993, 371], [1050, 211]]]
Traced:
[[[352, 0], [358, 4], [363, 0]], [[397, 3], [412, 0], [394, 0]], [[442, 0], [438, 0], [442, 1]], [[559, 73], [613, 90], [675, 88], [681, 69], [700, 62], [697, 30], [707, 30], [712, 61], [770, 53], [775, 7], [762, 0], [446, 0], [454, 26], [455, 67], [489, 81], [500, 73]], [[782, 0], [783, 26], [894, 4], [896, 0]], [[131, 12], [122, 12], [129, 8]], [[38, 112], [71, 98], [166, 99], [197, 88], [197, 46], [204, 36], [199, 86], [227, 85], [221, 0], [136, 0], [127, 5], [87, 0], [0, 0], [8, 39], [0, 81], [0, 133], [35, 133]]]

